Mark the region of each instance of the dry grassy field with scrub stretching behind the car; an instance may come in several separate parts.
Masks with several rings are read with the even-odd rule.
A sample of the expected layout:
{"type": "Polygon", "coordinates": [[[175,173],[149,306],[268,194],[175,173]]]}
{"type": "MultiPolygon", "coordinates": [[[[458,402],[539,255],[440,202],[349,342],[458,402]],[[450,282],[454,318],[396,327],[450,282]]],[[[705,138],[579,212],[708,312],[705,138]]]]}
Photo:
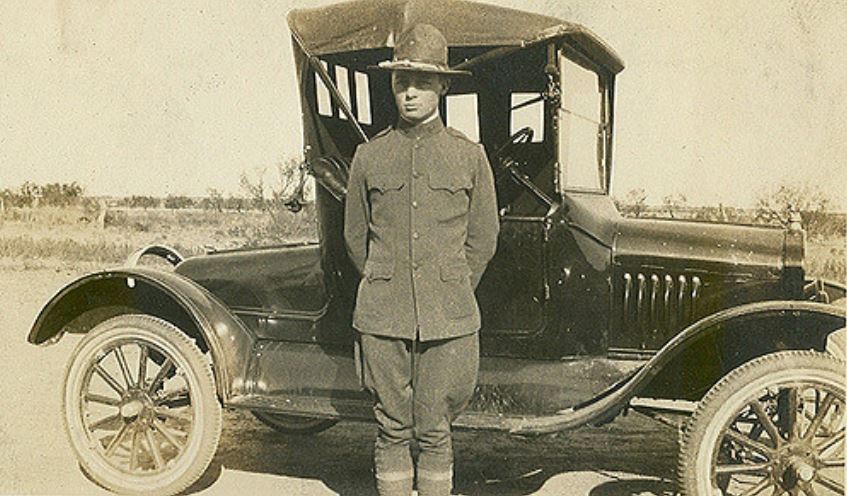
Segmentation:
{"type": "MultiPolygon", "coordinates": [[[[160,243],[183,254],[209,248],[257,247],[317,239],[312,207],[294,214],[200,209],[114,209],[100,227],[84,207],[10,208],[0,214],[0,267],[92,269],[120,264],[134,250],[160,243]]],[[[843,219],[841,219],[843,220],[843,219]]],[[[843,235],[810,233],[806,270],[847,280],[843,235]]]]}

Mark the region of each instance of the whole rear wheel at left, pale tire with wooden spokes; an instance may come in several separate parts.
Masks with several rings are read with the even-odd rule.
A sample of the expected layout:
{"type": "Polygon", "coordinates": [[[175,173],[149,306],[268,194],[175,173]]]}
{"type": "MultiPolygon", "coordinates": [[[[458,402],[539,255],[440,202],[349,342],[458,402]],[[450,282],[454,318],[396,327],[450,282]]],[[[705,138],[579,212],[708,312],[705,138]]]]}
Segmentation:
{"type": "Polygon", "coordinates": [[[122,315],[92,329],[68,363],[63,399],[80,465],[118,493],[178,493],[217,449],[222,413],[211,365],[157,318],[122,315]]]}

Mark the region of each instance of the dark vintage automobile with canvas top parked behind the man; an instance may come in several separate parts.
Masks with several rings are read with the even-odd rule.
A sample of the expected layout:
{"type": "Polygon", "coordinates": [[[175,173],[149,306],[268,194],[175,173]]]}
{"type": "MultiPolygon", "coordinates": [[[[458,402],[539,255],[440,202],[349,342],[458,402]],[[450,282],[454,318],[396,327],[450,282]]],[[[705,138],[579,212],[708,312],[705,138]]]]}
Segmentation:
{"type": "Polygon", "coordinates": [[[45,305],[29,342],[83,335],[63,393],[82,469],[115,492],[173,494],[206,470],[223,407],[289,433],[372,418],[343,198],[356,146],[397,118],[372,66],[419,22],[472,71],[441,115],[484,145],[501,220],[477,290],[479,386],[455,427],[529,436],[676,414],[684,494],[842,494],[845,287],[806,277],[798,219],[621,217],[609,196],[621,59],[578,24],[462,0],[289,15],[319,243],[187,259],[151,246],[45,305]]]}

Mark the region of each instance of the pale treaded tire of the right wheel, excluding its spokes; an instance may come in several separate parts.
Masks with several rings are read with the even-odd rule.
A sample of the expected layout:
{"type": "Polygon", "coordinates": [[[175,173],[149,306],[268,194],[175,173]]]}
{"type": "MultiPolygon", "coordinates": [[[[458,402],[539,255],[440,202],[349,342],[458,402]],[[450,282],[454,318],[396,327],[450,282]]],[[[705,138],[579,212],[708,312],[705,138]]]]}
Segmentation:
{"type": "Polygon", "coordinates": [[[784,351],[742,364],[718,381],[700,401],[680,443],[680,491],[687,496],[720,496],[711,484],[713,456],[724,429],[755,393],[769,386],[802,382],[841,392],[844,363],[812,351],[784,351]]]}

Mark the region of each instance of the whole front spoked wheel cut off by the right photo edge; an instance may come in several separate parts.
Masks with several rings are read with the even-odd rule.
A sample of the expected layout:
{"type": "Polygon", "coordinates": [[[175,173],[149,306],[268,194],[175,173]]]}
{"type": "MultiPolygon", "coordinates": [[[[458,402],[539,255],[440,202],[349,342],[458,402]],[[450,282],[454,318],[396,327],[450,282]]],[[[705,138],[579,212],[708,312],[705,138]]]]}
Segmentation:
{"type": "Polygon", "coordinates": [[[830,355],[786,351],[738,367],[683,433],[683,494],[843,495],[844,398],[844,363],[830,355]]]}

